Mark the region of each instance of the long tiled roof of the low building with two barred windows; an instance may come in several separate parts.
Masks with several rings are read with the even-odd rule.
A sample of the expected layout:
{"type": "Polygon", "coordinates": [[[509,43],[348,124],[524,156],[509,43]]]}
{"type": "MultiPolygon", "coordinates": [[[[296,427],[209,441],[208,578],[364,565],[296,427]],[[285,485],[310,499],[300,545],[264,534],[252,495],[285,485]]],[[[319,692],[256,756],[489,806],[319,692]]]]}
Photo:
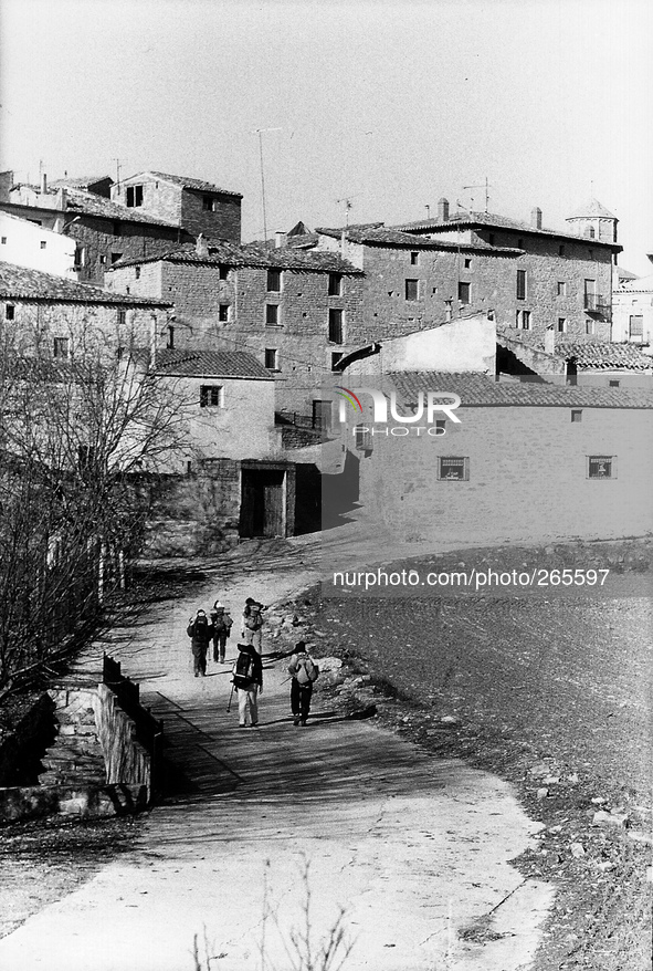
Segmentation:
{"type": "Polygon", "coordinates": [[[414,372],[390,374],[407,403],[417,403],[420,391],[450,391],[467,407],[557,407],[557,408],[653,408],[653,390],[593,388],[535,382],[502,383],[483,374],[414,372]]]}

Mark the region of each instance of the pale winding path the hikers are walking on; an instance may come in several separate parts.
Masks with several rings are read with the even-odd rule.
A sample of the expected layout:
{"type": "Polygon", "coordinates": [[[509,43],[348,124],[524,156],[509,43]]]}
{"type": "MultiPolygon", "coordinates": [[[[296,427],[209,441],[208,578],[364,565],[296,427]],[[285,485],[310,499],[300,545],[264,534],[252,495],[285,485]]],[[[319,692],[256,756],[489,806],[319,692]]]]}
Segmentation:
{"type": "Polygon", "coordinates": [[[134,852],[3,938],[1,969],[192,971],[193,935],[211,969],[298,967],[307,888],[314,943],[345,911],[345,971],[528,964],[552,891],[508,864],[538,828],[509,785],[344,720],[319,696],[313,723],[293,728],[283,664],[266,666],[259,730],[225,711],[229,666],[192,677],[192,609],[220,596],[238,617],[247,595],[285,599],[317,578],[310,543],[293,551],[240,551],[192,597],[113,633],[190,787],[151,813],[134,852]]]}

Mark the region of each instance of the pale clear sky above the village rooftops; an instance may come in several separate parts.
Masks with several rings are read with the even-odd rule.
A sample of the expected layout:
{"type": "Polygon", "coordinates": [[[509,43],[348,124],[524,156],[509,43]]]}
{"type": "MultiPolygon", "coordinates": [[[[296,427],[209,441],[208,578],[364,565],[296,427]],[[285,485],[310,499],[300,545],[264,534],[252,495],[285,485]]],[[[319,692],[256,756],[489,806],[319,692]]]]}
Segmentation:
{"type": "Polygon", "coordinates": [[[653,3],[0,0],[0,169],[243,194],[243,241],[591,196],[653,252],[653,3]],[[260,134],[257,134],[261,129],[260,134]],[[262,158],[261,158],[262,154],[262,158]],[[472,188],[470,188],[472,187],[472,188]]]}

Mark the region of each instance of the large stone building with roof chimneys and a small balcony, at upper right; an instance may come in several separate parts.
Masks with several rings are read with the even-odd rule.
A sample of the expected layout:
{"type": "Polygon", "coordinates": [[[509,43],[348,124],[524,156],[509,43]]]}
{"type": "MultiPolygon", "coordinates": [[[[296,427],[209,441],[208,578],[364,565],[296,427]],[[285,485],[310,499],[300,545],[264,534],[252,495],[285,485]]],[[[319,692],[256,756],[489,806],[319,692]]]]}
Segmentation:
{"type": "Polygon", "coordinates": [[[314,244],[339,251],[365,272],[360,343],[473,311],[493,311],[499,326],[515,331],[608,341],[612,261],[621,248],[617,220],[607,239],[608,217],[596,217],[590,237],[592,218],[572,218],[586,233],[580,237],[545,229],[539,209],[523,223],[489,213],[450,216],[441,199],[435,219],[318,229],[314,244]]]}

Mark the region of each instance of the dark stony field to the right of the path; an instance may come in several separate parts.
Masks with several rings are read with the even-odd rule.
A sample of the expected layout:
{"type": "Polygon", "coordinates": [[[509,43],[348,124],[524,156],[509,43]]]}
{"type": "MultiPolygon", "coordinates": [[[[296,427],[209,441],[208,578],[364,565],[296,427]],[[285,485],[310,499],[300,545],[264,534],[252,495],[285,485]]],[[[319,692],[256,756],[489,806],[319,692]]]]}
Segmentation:
{"type": "MultiPolygon", "coordinates": [[[[651,967],[651,544],[465,550],[397,567],[609,566],[597,595],[294,605],[344,658],[340,702],[517,786],[558,895],[536,971],[651,967]]],[[[388,567],[390,568],[390,567],[388,567]]],[[[484,928],[471,933],[484,933],[484,928]]]]}

